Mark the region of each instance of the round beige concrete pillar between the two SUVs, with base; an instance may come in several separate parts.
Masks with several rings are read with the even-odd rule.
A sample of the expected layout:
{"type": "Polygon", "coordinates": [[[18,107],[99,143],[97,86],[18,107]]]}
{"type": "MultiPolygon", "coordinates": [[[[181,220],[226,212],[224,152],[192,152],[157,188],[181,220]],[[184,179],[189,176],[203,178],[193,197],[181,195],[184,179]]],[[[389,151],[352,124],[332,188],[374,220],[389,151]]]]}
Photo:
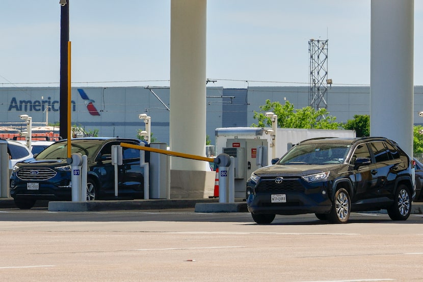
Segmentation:
{"type": "MultiPolygon", "coordinates": [[[[172,0],[170,150],[205,156],[206,0],[172,0]]],[[[204,171],[203,161],[172,158],[172,170],[204,171]]]]}

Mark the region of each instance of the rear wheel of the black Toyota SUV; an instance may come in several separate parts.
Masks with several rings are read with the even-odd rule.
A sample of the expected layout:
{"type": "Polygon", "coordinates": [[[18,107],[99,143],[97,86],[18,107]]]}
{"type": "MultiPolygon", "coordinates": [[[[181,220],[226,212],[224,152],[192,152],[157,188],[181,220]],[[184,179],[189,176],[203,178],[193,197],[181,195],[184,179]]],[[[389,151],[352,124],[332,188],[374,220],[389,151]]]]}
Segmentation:
{"type": "Polygon", "coordinates": [[[393,205],[388,209],[388,215],[392,220],[406,220],[411,213],[410,190],[401,184],[395,192],[393,205]]]}

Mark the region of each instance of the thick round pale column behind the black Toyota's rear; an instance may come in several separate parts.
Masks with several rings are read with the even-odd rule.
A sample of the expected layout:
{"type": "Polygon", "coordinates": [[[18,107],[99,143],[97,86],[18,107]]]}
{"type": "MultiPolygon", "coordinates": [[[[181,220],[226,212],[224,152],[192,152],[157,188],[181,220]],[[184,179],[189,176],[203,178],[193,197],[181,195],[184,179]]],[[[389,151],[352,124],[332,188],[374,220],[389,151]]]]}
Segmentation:
{"type": "Polygon", "coordinates": [[[414,0],[372,0],[370,132],[413,155],[414,0]]]}

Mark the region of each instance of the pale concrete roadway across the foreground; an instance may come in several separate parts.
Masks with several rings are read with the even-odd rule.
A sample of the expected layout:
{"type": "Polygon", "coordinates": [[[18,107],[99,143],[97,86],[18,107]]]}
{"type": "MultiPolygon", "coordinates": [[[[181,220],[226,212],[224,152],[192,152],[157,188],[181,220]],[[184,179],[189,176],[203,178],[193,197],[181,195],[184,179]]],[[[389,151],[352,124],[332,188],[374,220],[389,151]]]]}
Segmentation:
{"type": "Polygon", "coordinates": [[[2,281],[423,280],[423,216],[0,210],[2,281]]]}

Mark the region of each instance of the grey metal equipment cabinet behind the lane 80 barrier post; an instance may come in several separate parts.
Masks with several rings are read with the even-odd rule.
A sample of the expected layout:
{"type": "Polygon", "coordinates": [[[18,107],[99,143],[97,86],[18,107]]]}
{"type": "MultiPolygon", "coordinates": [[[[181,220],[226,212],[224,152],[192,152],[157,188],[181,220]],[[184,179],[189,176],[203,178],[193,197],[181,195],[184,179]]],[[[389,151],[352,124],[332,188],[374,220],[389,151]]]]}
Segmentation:
{"type": "Polygon", "coordinates": [[[268,165],[267,139],[227,139],[223,152],[234,157],[235,198],[245,199],[246,182],[257,168],[268,165]]]}

